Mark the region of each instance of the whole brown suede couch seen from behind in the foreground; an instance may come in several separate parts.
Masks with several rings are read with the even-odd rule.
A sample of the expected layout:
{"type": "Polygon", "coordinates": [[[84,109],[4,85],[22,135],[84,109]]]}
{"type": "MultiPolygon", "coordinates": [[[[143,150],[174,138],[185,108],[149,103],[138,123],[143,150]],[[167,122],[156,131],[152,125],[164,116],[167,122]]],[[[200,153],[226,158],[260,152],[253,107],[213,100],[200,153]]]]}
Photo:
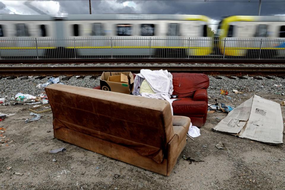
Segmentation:
{"type": "Polygon", "coordinates": [[[163,175],[186,145],[190,118],[165,100],[52,84],[54,137],[163,175]]]}

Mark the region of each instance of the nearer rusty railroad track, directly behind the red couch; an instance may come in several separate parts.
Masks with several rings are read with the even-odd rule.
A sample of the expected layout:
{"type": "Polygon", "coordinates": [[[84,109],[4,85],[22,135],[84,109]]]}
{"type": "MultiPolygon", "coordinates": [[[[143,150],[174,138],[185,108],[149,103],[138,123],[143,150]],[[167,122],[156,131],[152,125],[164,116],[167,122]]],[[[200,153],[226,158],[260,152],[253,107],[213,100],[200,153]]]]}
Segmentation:
{"type": "MultiPolygon", "coordinates": [[[[131,71],[139,73],[141,69],[169,72],[204,73],[223,76],[285,76],[285,67],[222,67],[222,66],[66,66],[66,67],[1,67],[0,76],[98,76],[106,71],[131,71]]],[[[285,78],[285,77],[283,77],[285,78]]]]}

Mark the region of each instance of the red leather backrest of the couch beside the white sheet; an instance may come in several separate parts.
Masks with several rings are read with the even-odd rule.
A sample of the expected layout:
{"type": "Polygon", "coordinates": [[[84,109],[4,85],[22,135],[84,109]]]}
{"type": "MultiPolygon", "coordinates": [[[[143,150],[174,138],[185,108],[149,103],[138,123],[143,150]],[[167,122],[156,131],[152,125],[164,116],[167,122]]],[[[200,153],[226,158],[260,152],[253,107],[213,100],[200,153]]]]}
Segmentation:
{"type": "Polygon", "coordinates": [[[171,73],[173,93],[179,97],[191,97],[196,90],[209,87],[209,77],[201,73],[171,73]]]}

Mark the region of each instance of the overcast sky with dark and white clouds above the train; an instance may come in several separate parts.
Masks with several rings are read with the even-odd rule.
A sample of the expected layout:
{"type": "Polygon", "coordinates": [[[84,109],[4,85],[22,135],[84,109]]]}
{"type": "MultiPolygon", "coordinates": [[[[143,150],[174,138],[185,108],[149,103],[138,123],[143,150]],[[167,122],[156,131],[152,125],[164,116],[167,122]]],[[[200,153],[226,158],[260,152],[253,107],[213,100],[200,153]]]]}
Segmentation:
{"type": "MultiPolygon", "coordinates": [[[[189,14],[206,15],[217,23],[229,15],[257,15],[258,0],[218,0],[234,2],[196,1],[98,1],[91,0],[92,14],[101,13],[142,13],[142,14],[189,14]],[[246,1],[246,2],[241,2],[246,1]],[[251,1],[251,2],[248,2],[251,1]],[[253,2],[254,1],[254,2],[253,2]]],[[[263,0],[261,15],[285,15],[282,0],[263,0]]],[[[89,14],[89,1],[13,1],[0,0],[0,14],[89,14]]]]}

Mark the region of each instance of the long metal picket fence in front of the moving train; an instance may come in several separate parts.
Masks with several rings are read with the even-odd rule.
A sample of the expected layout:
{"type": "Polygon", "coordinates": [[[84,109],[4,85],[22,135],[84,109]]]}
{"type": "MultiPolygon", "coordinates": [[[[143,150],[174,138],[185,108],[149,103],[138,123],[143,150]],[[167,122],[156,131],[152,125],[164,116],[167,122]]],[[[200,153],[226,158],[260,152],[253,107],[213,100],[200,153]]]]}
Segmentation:
{"type": "Polygon", "coordinates": [[[284,38],[0,38],[0,60],[285,60],[284,38]]]}

